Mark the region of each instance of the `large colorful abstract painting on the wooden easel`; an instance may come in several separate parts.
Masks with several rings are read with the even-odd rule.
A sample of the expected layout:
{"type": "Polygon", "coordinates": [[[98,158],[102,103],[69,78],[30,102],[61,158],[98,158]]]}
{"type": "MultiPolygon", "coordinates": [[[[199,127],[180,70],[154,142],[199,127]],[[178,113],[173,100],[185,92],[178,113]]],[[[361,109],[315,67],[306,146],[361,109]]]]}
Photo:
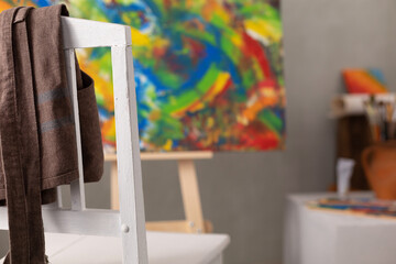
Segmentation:
{"type": "MultiPolygon", "coordinates": [[[[29,1],[0,0],[0,8],[29,1]]],[[[62,1],[61,1],[62,2],[62,1]]],[[[51,1],[32,0],[36,7],[51,1]]],[[[67,0],[70,15],[132,28],[143,151],[265,151],[285,144],[279,0],[67,0]]],[[[114,147],[108,48],[79,52],[114,147]]]]}

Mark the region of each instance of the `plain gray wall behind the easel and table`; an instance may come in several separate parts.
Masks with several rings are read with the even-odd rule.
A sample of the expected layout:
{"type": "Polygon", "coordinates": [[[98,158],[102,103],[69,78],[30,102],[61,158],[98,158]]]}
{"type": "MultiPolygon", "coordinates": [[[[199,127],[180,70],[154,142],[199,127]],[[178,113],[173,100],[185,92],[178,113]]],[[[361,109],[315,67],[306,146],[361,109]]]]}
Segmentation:
{"type": "MultiPolygon", "coordinates": [[[[334,122],[327,113],[330,98],[342,91],[340,69],[381,67],[396,85],[396,1],[282,1],[286,150],[197,162],[204,213],[232,239],[228,264],[282,263],[285,196],[332,183],[334,122]]],[[[143,175],[147,220],[183,218],[176,163],[144,162],[143,175]]],[[[109,206],[108,183],[106,175],[100,195],[88,187],[91,206],[109,206]]]]}

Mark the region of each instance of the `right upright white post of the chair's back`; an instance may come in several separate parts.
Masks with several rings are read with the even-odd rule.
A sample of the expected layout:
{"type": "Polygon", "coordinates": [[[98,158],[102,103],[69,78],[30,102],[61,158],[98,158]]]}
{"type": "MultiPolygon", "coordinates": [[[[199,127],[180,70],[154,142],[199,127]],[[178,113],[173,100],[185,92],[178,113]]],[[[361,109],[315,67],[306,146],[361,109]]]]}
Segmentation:
{"type": "MultiPolygon", "coordinates": [[[[131,31],[127,31],[131,38],[131,31]]],[[[142,169],[131,46],[112,46],[117,161],[123,264],[146,264],[142,169]]],[[[116,228],[116,227],[114,227],[116,228]]]]}

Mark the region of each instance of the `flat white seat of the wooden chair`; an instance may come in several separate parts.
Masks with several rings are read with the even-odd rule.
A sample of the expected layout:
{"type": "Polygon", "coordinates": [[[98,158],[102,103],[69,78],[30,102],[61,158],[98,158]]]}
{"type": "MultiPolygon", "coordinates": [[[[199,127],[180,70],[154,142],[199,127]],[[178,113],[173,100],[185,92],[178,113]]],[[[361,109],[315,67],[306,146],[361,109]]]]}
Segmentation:
{"type": "MultiPolygon", "coordinates": [[[[121,264],[119,238],[46,233],[46,253],[54,264],[121,264]]],[[[230,243],[226,234],[147,232],[150,264],[212,264],[230,243]]],[[[2,263],[2,262],[1,262],[2,263]]]]}

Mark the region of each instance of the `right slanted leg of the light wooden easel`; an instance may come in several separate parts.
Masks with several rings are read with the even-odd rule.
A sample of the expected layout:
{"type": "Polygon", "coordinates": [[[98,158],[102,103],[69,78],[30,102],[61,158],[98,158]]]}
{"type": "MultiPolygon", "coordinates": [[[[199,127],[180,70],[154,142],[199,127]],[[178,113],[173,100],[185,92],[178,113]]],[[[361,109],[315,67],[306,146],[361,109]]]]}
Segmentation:
{"type": "Polygon", "coordinates": [[[194,162],[178,161],[178,172],[186,219],[193,232],[204,233],[205,221],[194,162]]]}

